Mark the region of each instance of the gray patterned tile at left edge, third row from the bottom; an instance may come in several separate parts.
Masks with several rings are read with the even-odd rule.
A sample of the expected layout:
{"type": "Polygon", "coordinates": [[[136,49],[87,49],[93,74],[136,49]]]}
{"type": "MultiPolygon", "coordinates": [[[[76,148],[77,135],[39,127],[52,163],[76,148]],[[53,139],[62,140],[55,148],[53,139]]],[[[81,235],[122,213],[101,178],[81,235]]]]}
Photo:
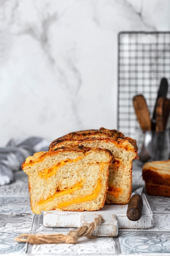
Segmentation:
{"type": "Polygon", "coordinates": [[[0,198],[0,212],[32,213],[29,198],[0,198]]]}

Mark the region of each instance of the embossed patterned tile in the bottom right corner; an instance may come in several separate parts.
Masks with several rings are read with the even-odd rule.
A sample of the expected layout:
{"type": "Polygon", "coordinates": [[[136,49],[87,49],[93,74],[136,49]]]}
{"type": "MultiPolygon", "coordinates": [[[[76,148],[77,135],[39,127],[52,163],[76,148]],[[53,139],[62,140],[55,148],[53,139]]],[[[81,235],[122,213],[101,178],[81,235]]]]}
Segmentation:
{"type": "Polygon", "coordinates": [[[119,232],[122,254],[161,254],[170,252],[169,232],[119,232]]]}

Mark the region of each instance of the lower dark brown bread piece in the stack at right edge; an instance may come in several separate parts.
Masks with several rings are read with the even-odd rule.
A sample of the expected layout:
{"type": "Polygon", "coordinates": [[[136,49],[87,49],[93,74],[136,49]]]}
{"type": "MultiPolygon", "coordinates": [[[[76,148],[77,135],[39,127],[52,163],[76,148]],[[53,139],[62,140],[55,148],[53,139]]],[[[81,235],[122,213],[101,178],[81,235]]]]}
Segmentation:
{"type": "Polygon", "coordinates": [[[145,183],[146,193],[148,195],[158,195],[170,197],[170,186],[160,184],[145,183]]]}

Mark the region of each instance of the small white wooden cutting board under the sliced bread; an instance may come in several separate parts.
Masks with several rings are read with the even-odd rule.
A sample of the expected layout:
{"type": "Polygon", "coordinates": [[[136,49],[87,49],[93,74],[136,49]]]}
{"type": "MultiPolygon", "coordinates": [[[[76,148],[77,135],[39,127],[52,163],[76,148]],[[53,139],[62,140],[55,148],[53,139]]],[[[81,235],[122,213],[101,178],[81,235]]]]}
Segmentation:
{"type": "Polygon", "coordinates": [[[90,224],[97,216],[102,215],[104,222],[93,231],[94,236],[117,236],[118,229],[149,229],[153,226],[153,214],[144,193],[142,198],[142,215],[137,221],[127,218],[127,204],[105,204],[100,211],[44,211],[43,225],[46,227],[81,227],[90,224]]]}

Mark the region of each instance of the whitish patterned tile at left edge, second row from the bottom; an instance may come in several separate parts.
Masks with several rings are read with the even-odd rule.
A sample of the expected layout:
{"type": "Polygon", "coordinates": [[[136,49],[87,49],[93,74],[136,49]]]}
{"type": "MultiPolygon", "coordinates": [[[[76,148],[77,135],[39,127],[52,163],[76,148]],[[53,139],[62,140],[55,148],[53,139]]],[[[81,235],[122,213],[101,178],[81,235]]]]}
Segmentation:
{"type": "Polygon", "coordinates": [[[31,213],[0,213],[0,231],[31,231],[33,217],[31,213]]]}

